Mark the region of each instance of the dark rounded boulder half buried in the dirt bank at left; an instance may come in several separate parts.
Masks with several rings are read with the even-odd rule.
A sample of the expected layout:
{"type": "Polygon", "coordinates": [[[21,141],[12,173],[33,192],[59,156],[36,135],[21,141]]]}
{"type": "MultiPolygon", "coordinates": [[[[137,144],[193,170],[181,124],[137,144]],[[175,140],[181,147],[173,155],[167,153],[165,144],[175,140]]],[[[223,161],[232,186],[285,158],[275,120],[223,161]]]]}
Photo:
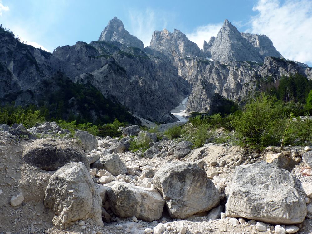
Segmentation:
{"type": "Polygon", "coordinates": [[[54,171],[70,162],[82,162],[90,169],[90,164],[72,144],[53,138],[37,139],[23,152],[22,160],[38,168],[54,171]]]}

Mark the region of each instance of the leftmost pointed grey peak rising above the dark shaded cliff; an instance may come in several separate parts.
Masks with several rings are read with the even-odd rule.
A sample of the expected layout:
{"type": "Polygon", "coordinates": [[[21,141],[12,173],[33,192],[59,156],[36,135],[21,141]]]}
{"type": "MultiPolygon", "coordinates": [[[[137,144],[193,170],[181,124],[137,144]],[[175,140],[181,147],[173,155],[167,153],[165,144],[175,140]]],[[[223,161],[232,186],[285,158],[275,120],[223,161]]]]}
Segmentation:
{"type": "Polygon", "coordinates": [[[102,31],[99,41],[118,41],[125,46],[144,49],[144,44],[124,28],[123,22],[116,16],[111,19],[102,31]]]}

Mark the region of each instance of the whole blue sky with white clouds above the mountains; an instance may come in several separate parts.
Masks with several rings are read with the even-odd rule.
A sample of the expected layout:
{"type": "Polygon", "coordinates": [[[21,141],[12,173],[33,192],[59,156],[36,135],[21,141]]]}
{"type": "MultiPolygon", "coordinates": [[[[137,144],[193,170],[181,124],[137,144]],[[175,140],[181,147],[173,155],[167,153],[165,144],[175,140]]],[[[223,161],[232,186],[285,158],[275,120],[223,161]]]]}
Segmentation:
{"type": "Polygon", "coordinates": [[[202,48],[225,19],[240,32],[265,34],[287,59],[312,66],[311,0],[0,0],[0,23],[35,47],[52,52],[90,43],[113,17],[149,46],[154,30],[178,29],[202,48]]]}

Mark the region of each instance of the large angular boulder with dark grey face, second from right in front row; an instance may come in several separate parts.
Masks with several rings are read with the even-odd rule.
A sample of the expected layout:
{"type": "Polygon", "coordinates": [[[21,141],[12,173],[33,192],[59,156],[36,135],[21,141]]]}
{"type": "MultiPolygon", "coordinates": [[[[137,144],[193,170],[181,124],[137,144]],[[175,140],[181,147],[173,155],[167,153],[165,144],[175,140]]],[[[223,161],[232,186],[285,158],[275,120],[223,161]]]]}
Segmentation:
{"type": "Polygon", "coordinates": [[[219,204],[219,192],[196,163],[173,162],[163,165],[153,183],[162,194],[172,218],[184,219],[219,204]]]}

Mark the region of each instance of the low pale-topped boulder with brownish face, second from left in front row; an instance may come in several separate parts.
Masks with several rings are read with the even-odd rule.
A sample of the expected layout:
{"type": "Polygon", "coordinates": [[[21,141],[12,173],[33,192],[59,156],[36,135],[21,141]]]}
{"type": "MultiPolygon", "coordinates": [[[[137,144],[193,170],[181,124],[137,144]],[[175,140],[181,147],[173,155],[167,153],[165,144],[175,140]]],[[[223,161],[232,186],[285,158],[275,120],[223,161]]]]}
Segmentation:
{"type": "Polygon", "coordinates": [[[148,222],[161,217],[165,204],[157,190],[134,186],[125,182],[115,183],[107,190],[110,208],[119,217],[132,217],[148,222]]]}

